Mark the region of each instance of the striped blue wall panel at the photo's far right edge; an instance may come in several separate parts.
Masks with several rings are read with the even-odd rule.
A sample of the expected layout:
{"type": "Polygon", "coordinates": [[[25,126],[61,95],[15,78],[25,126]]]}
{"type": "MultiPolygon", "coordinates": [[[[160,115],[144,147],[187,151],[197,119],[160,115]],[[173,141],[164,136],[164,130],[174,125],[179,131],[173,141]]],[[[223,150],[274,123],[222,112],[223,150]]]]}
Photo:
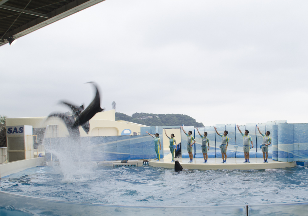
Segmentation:
{"type": "Polygon", "coordinates": [[[308,124],[294,124],[293,161],[308,162],[308,124]]]}

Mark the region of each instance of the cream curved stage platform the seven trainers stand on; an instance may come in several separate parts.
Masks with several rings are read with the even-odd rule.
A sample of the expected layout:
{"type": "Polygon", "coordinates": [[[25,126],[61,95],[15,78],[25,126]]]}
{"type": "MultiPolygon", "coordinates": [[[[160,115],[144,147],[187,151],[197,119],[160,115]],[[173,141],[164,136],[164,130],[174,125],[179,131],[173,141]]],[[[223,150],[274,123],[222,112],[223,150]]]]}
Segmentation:
{"type": "MultiPolygon", "coordinates": [[[[168,154],[164,156],[164,158],[160,159],[160,161],[156,161],[154,159],[149,160],[149,165],[153,167],[164,167],[174,169],[174,162],[171,163],[172,156],[168,154]]],[[[203,158],[194,158],[193,163],[188,163],[189,158],[175,158],[176,161],[179,161],[184,169],[276,169],[276,168],[286,168],[286,167],[294,167],[296,166],[296,162],[280,162],[273,161],[272,159],[268,159],[268,163],[263,163],[263,158],[250,158],[250,163],[243,163],[245,161],[244,158],[227,158],[227,163],[221,163],[221,158],[209,158],[208,163],[205,164],[203,158]]]]}

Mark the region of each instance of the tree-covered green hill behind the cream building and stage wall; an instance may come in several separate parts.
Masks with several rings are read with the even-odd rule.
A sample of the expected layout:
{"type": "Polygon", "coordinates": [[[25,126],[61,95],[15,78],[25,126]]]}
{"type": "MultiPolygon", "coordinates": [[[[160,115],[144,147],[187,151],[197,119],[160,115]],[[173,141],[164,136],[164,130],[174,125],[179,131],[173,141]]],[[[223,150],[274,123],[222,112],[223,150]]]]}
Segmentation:
{"type": "Polygon", "coordinates": [[[195,126],[198,128],[204,127],[200,122],[196,122],[196,119],[193,119],[190,116],[182,114],[154,114],[154,113],[134,113],[132,116],[125,115],[124,113],[116,112],[115,120],[124,120],[130,121],[137,124],[144,124],[147,126],[173,126],[173,125],[182,125],[184,126],[195,126]],[[153,118],[148,119],[138,119],[142,116],[152,116],[153,118]],[[158,118],[156,117],[158,116],[158,118]]]}

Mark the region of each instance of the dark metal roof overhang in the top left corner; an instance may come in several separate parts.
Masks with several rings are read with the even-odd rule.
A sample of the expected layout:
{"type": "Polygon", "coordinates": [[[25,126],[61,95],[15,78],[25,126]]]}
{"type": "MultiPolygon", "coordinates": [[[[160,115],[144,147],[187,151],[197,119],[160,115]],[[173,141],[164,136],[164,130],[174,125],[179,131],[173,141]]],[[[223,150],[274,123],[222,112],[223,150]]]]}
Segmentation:
{"type": "Polygon", "coordinates": [[[105,0],[0,0],[0,46],[105,0]]]}

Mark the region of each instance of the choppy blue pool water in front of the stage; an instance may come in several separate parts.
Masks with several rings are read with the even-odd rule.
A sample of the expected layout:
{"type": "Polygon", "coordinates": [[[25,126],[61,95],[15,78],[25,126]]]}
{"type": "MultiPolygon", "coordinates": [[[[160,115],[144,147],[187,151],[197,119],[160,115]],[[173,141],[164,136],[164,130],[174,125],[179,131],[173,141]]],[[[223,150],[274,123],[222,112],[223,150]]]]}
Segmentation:
{"type": "Polygon", "coordinates": [[[308,168],[182,170],[95,167],[87,178],[63,182],[56,167],[2,178],[0,190],[60,201],[125,206],[213,206],[307,202],[308,168]]]}

